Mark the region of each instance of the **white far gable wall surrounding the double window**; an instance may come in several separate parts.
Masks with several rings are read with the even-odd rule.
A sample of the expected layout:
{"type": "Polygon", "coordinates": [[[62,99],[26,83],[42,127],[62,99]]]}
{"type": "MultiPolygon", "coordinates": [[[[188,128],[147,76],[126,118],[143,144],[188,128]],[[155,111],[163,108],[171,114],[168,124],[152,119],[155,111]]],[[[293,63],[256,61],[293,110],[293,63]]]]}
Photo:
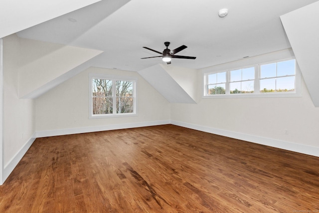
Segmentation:
{"type": "Polygon", "coordinates": [[[91,67],[36,99],[39,137],[169,123],[170,105],[137,72],[91,67]],[[89,73],[138,77],[138,115],[89,119],[89,73]]]}

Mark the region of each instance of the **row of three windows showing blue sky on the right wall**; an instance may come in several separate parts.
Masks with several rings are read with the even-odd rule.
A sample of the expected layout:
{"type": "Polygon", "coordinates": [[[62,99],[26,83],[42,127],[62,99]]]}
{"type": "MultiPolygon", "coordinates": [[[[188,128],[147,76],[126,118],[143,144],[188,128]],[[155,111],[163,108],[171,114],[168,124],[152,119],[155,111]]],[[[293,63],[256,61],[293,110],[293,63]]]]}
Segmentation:
{"type": "Polygon", "coordinates": [[[298,96],[300,79],[295,59],[204,73],[204,97],[298,96]]]}

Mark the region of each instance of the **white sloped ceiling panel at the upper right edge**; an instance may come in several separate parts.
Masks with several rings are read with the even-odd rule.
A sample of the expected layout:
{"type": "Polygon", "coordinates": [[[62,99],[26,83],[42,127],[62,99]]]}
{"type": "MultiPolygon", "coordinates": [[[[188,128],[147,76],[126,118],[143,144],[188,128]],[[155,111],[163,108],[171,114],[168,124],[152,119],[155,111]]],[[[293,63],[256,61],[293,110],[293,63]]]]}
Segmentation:
{"type": "Polygon", "coordinates": [[[314,105],[319,107],[319,1],[280,16],[314,105]]]}

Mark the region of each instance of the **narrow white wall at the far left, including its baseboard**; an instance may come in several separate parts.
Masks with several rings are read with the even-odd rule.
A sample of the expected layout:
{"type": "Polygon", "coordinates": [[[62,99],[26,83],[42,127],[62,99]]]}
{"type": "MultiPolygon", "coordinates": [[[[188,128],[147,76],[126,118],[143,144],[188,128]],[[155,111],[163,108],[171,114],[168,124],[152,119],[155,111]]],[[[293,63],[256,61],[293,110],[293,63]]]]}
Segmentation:
{"type": "Polygon", "coordinates": [[[19,39],[3,38],[3,180],[34,141],[35,101],[18,98],[19,39]],[[26,150],[25,150],[26,149],[26,150]]]}

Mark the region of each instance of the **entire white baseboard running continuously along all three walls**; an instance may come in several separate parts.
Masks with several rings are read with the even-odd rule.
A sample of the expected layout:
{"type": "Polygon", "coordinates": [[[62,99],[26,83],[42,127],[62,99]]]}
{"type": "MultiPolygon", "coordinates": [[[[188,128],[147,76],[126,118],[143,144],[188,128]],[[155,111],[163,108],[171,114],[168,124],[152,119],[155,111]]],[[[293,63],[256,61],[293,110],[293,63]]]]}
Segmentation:
{"type": "MultiPolygon", "coordinates": [[[[116,125],[107,125],[107,126],[96,126],[96,127],[81,127],[81,128],[72,128],[72,129],[60,129],[60,130],[49,130],[49,131],[40,131],[35,132],[32,137],[24,144],[24,146],[15,154],[15,156],[4,166],[2,171],[2,181],[4,182],[19,161],[22,159],[26,151],[30,148],[32,143],[36,138],[41,137],[50,137],[58,135],[70,135],[78,133],[87,133],[87,132],[99,132],[107,130],[117,130],[117,129],[128,129],[128,128],[137,128],[137,127],[146,127],[146,126],[157,126],[164,124],[173,124],[176,126],[186,127],[189,129],[199,130],[202,132],[212,133],[216,135],[222,135],[230,138],[235,138],[239,140],[244,140],[252,143],[262,144],[266,146],[271,146],[279,149],[289,150],[293,152],[303,153],[307,155],[319,157],[319,147],[312,147],[303,144],[296,144],[287,141],[281,141],[271,138],[264,138],[254,135],[247,135],[243,133],[231,132],[227,130],[215,129],[211,127],[205,127],[190,123],[184,123],[180,121],[173,120],[162,120],[162,121],[152,121],[152,122],[140,122],[140,123],[129,123],[129,124],[116,124],[116,125]]],[[[0,183],[0,185],[3,183],[0,183]]]]}

